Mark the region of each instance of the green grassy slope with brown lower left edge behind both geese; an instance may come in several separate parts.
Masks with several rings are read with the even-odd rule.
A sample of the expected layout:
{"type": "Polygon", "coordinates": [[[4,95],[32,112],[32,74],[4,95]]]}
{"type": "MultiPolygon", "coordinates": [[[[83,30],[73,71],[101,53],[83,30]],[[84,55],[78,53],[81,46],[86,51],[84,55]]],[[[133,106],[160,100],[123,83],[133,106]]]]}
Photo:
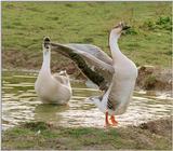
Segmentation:
{"type": "MultiPolygon", "coordinates": [[[[3,68],[39,69],[41,42],[92,43],[109,54],[108,33],[120,20],[132,28],[120,40],[136,65],[171,67],[171,2],[2,2],[3,68]]],[[[57,54],[52,69],[74,68],[57,54]]]]}

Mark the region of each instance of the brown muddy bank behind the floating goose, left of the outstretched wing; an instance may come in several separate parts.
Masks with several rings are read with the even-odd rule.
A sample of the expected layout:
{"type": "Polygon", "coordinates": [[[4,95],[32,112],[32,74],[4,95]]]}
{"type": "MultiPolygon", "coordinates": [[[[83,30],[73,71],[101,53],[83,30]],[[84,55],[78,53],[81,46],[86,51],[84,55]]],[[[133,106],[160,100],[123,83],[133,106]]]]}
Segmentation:
{"type": "MultiPolygon", "coordinates": [[[[26,51],[2,51],[2,69],[24,69],[24,70],[40,70],[42,65],[42,51],[26,52],[26,51]]],[[[52,52],[51,70],[57,72],[67,70],[68,74],[75,74],[77,78],[85,79],[81,76],[76,65],[68,58],[52,52]]]]}

